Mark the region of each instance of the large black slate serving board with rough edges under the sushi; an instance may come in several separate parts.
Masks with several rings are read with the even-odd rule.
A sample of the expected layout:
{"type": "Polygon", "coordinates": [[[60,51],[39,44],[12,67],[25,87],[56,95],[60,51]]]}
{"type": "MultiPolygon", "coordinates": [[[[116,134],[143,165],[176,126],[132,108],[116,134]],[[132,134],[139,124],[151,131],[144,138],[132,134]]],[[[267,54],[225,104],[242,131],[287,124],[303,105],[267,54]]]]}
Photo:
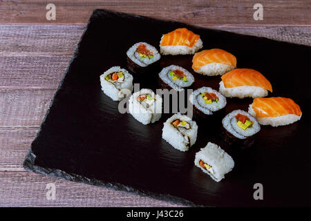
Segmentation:
{"type": "MultiPolygon", "coordinates": [[[[191,70],[191,58],[162,56],[160,64],[191,70]]],[[[307,46],[95,10],[23,166],[186,205],[310,206],[310,58],[307,46]],[[263,126],[256,144],[240,151],[225,144],[220,122],[200,124],[196,144],[182,153],[161,139],[169,115],[144,126],[131,115],[118,113],[118,102],[102,93],[100,75],[111,66],[126,68],[126,50],[135,42],[158,47],[163,33],[180,27],[198,33],[205,49],[232,52],[239,68],[263,73],[272,82],[273,96],[291,97],[301,106],[301,121],[278,128],[263,126]],[[221,182],[194,166],[195,153],[207,142],[220,145],[236,162],[221,182]],[[264,200],[254,200],[255,183],[263,184],[264,200]]],[[[220,77],[194,76],[194,88],[218,89],[220,77]]],[[[226,113],[247,110],[251,102],[228,99],[226,113]]]]}

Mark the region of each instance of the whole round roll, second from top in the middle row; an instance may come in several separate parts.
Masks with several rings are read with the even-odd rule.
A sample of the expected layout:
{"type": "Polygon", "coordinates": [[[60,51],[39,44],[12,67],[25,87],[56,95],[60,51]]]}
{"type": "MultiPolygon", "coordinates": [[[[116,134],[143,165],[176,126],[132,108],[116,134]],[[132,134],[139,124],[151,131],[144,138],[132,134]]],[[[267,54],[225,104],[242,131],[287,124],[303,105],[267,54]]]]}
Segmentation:
{"type": "Polygon", "coordinates": [[[171,65],[161,70],[159,81],[162,88],[173,88],[181,91],[194,83],[194,76],[185,68],[171,65]]]}

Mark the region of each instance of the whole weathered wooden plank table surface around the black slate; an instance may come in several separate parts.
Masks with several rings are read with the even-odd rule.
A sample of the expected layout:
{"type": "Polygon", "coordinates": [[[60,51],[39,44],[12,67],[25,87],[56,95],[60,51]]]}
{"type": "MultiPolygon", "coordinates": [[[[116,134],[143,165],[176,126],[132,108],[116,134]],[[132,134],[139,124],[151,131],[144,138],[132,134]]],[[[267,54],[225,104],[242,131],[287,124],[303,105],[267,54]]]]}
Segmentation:
{"type": "Polygon", "coordinates": [[[0,206],[177,206],[139,195],[26,172],[23,159],[95,8],[311,46],[311,1],[0,1],[0,206]],[[46,184],[56,199],[46,199],[46,184]]]}

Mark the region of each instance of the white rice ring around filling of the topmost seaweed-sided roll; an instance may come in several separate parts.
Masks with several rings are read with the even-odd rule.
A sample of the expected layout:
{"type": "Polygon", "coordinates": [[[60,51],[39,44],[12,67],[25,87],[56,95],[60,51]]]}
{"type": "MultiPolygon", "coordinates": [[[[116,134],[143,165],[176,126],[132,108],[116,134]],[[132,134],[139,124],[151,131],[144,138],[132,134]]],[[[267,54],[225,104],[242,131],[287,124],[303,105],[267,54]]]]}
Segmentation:
{"type": "Polygon", "coordinates": [[[158,50],[151,46],[150,44],[146,43],[146,42],[138,42],[136,44],[134,44],[133,46],[131,46],[131,48],[129,48],[129,50],[126,52],[127,57],[129,57],[135,64],[138,64],[141,67],[147,67],[149,66],[149,64],[153,64],[154,62],[158,61],[161,57],[160,53],[158,52],[158,50]],[[138,56],[138,52],[136,52],[138,46],[140,44],[144,44],[145,46],[147,46],[148,50],[151,50],[151,52],[153,52],[153,57],[152,58],[144,58],[142,59],[141,57],[138,56]]]}

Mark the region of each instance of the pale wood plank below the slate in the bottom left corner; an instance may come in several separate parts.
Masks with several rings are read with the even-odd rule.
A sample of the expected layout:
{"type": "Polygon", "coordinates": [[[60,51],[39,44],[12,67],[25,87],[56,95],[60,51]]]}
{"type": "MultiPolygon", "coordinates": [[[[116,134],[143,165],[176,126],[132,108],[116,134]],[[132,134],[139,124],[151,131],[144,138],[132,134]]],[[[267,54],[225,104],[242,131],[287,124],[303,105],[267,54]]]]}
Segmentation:
{"type": "Polygon", "coordinates": [[[178,206],[28,172],[0,172],[0,206],[178,206]],[[46,199],[46,184],[56,186],[56,199],[46,199]]]}

